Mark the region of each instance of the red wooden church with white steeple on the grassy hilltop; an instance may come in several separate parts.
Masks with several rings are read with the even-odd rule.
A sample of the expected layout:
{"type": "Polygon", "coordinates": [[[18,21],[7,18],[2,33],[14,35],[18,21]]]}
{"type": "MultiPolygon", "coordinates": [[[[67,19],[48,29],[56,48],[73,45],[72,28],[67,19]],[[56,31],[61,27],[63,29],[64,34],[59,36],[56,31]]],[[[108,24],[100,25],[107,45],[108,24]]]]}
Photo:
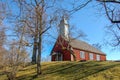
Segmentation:
{"type": "Polygon", "coordinates": [[[106,54],[90,44],[69,37],[67,21],[60,21],[60,33],[51,51],[52,61],[96,60],[105,61],[106,54]]]}

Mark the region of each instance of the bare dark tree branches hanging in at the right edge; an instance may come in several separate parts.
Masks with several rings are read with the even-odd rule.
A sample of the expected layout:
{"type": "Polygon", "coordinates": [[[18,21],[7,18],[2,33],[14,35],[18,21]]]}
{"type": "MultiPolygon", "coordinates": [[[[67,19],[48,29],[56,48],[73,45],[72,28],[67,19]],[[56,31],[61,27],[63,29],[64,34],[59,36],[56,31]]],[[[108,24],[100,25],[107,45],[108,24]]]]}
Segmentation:
{"type": "Polygon", "coordinates": [[[112,34],[110,45],[120,46],[120,1],[119,0],[97,0],[102,3],[105,14],[112,23],[107,29],[112,34]]]}

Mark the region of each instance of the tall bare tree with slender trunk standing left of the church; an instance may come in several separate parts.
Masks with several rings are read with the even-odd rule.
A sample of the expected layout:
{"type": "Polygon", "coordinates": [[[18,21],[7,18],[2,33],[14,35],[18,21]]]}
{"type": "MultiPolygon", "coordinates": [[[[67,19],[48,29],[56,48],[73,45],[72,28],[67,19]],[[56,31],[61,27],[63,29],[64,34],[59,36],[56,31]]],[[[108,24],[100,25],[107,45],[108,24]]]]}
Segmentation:
{"type": "MultiPolygon", "coordinates": [[[[52,1],[52,0],[51,0],[52,1]]],[[[21,10],[21,18],[18,22],[26,26],[26,33],[33,38],[33,56],[32,63],[37,63],[37,74],[41,74],[41,51],[42,36],[51,28],[51,24],[55,21],[54,16],[47,16],[46,9],[53,7],[44,0],[17,1],[21,10]]],[[[32,43],[32,42],[31,42],[32,43]]]]}

